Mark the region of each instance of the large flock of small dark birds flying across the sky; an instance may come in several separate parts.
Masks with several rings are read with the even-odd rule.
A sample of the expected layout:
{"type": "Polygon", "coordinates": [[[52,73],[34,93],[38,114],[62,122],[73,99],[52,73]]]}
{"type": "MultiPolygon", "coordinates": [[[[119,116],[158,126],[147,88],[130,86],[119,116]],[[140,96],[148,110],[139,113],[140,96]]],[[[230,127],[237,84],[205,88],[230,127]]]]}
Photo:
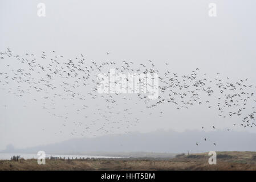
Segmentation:
{"type": "MultiPolygon", "coordinates": [[[[108,55],[109,52],[106,53],[106,56],[108,55]]],[[[107,134],[120,129],[126,129],[129,133],[130,127],[138,125],[141,115],[152,115],[155,108],[167,104],[172,104],[177,110],[206,105],[209,109],[216,109],[222,118],[241,119],[240,123],[233,123],[233,126],[256,126],[255,107],[247,108],[249,101],[256,102],[253,92],[256,87],[248,84],[247,78],[231,81],[229,77],[218,78],[220,73],[217,73],[216,78],[210,79],[206,74],[202,74],[201,77],[198,68],[188,75],[179,76],[168,70],[168,63],[165,63],[165,72],[159,71],[152,60],[144,64],[136,64],[132,61],[96,63],[86,60],[83,54],[74,59],[65,59],[55,51],[48,53],[42,51],[40,55],[33,53],[17,55],[10,48],[0,52],[0,65],[0,89],[17,97],[29,95],[32,102],[42,102],[40,103],[42,109],[58,117],[62,121],[63,128],[69,127],[68,132],[71,135],[84,136],[86,133],[94,135],[95,132],[107,134]],[[121,73],[157,73],[159,97],[156,100],[149,100],[143,93],[134,94],[135,97],[121,93],[97,93],[97,85],[100,82],[97,80],[97,75],[103,72],[109,74],[110,68],[115,68],[121,73]],[[9,85],[11,87],[7,88],[9,85]],[[56,107],[58,102],[63,103],[59,106],[63,107],[60,108],[59,114],[56,107]],[[94,106],[87,105],[89,102],[94,106]],[[66,113],[63,113],[63,110],[66,110],[66,113]],[[74,117],[71,113],[80,115],[82,119],[74,119],[78,117],[74,117]],[[72,121],[73,119],[75,121],[72,121]],[[73,127],[78,129],[70,131],[72,127],[70,121],[73,127]],[[100,123],[101,127],[97,123],[100,123]]],[[[160,111],[158,114],[162,117],[164,113],[160,111]]],[[[215,126],[211,127],[216,129],[215,126]]],[[[59,131],[62,132],[63,130],[59,131]]]]}

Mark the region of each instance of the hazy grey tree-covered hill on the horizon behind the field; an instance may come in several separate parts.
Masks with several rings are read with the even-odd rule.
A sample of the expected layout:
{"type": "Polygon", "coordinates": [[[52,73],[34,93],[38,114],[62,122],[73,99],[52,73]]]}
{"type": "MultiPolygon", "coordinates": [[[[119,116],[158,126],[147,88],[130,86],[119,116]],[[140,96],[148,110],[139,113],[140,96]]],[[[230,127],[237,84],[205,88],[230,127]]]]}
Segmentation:
{"type": "Polygon", "coordinates": [[[76,138],[59,143],[29,148],[7,146],[3,152],[46,154],[84,154],[108,156],[173,156],[174,153],[205,151],[256,151],[256,134],[238,131],[155,131],[151,133],[131,133],[122,135],[104,135],[95,138],[76,138]],[[206,138],[206,141],[204,140],[206,138]],[[196,145],[198,143],[198,146],[196,145]],[[214,146],[213,143],[216,143],[214,146]],[[144,153],[143,152],[147,152],[144,153]],[[168,154],[167,154],[168,153],[168,154]],[[141,155],[143,154],[143,155],[141,155]]]}

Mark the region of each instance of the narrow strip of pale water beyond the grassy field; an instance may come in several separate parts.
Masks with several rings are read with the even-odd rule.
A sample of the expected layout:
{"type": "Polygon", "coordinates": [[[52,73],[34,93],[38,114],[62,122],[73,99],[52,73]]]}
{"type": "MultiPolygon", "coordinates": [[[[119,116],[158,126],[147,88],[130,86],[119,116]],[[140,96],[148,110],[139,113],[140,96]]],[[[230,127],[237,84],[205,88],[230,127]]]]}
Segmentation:
{"type": "MultiPolygon", "coordinates": [[[[0,160],[10,160],[12,156],[20,155],[23,159],[38,159],[37,154],[15,154],[15,153],[0,153],[0,160]]],[[[83,158],[118,158],[118,157],[109,157],[109,156],[94,156],[94,155],[59,155],[59,154],[46,154],[46,158],[50,157],[58,157],[58,158],[65,158],[65,159],[83,159],[83,158]]]]}

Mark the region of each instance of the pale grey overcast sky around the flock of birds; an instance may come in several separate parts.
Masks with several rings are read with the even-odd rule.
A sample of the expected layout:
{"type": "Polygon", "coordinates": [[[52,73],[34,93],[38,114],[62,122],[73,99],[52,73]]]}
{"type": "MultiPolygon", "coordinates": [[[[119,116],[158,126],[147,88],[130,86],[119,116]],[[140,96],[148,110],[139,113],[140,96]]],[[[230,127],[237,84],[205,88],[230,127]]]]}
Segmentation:
{"type": "MultiPolygon", "coordinates": [[[[59,59],[61,63],[74,59],[81,53],[86,60],[96,62],[110,60],[121,64],[122,61],[133,61],[139,65],[153,60],[160,73],[164,73],[165,63],[169,64],[170,71],[179,75],[189,74],[199,68],[200,73],[207,73],[209,78],[215,78],[217,72],[221,73],[218,75],[220,79],[229,77],[235,81],[248,78],[248,84],[254,85],[255,90],[255,6],[256,2],[253,0],[4,0],[0,2],[0,52],[10,48],[18,55],[25,55],[27,52],[41,55],[44,51],[50,56],[55,51],[56,54],[64,56],[64,59],[59,59]],[[46,5],[45,17],[37,14],[38,3],[46,5]],[[216,3],[216,17],[208,14],[209,3],[216,3]]],[[[1,61],[0,72],[9,73],[10,69],[25,68],[25,65],[18,64],[14,58],[1,61]]],[[[38,61],[46,64],[45,61],[49,60],[38,61]]],[[[40,76],[35,75],[35,78],[40,76]]],[[[68,110],[76,109],[75,106],[79,104],[88,105],[89,109],[84,111],[87,118],[81,118],[74,112],[67,119],[67,127],[63,127],[63,118],[54,117],[52,113],[64,114],[66,111],[62,106],[71,103],[70,101],[64,103],[54,100],[56,109],[50,109],[49,114],[42,109],[44,100],[39,93],[15,97],[7,90],[15,89],[17,85],[1,85],[0,88],[0,150],[5,149],[7,144],[26,148],[72,138],[103,135],[97,129],[103,127],[104,121],[97,120],[95,114],[99,107],[102,106],[103,109],[102,100],[74,101],[75,105],[68,105],[68,110]],[[31,101],[34,98],[36,102],[31,101]],[[90,125],[92,121],[96,121],[94,129],[80,135],[83,129],[78,122],[90,125]],[[71,135],[73,130],[79,134],[71,135]]],[[[87,93],[87,89],[92,88],[89,85],[81,92],[87,93]]],[[[63,90],[59,89],[58,92],[62,93],[63,90]]],[[[213,125],[217,129],[226,130],[241,120],[235,117],[220,118],[218,111],[209,110],[205,105],[182,111],[176,110],[173,105],[160,106],[149,115],[145,111],[139,112],[144,106],[135,105],[133,96],[124,97],[131,98],[128,107],[132,108],[133,114],[127,116],[128,120],[137,117],[140,121],[128,129],[123,128],[125,125],[121,123],[117,129],[113,123],[106,129],[116,127],[113,134],[150,133],[158,129],[186,132],[200,130],[202,126],[210,132],[213,125]],[[161,118],[160,111],[164,113],[161,118]]],[[[217,102],[214,98],[212,102],[217,102]]],[[[255,105],[254,103],[248,107],[255,105]]],[[[115,111],[122,108],[126,106],[120,104],[115,111]]],[[[118,117],[112,116],[114,119],[118,117]]],[[[233,127],[232,130],[246,133],[256,131],[255,127],[233,127]]],[[[243,147],[241,146],[241,150],[243,147]]]]}

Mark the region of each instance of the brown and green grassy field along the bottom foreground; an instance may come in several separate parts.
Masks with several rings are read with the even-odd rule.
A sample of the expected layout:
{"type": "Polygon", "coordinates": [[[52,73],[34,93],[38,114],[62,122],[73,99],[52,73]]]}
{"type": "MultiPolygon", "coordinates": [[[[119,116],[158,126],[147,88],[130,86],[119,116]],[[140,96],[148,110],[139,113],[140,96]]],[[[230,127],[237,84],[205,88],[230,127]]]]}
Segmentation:
{"type": "Polygon", "coordinates": [[[46,160],[0,160],[0,170],[256,170],[256,152],[217,152],[217,164],[208,163],[207,153],[174,158],[122,158],[46,160]]]}

